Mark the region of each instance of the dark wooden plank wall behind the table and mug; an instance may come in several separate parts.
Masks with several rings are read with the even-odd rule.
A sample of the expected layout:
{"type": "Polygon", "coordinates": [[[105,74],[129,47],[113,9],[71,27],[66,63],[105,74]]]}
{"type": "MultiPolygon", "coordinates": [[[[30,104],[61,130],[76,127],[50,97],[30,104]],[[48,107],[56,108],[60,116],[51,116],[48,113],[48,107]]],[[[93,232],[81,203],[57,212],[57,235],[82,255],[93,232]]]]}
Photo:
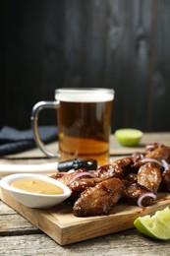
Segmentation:
{"type": "MultiPolygon", "coordinates": [[[[170,131],[169,0],[1,2],[0,127],[30,127],[32,106],[66,87],[116,91],[112,131],[170,131]]],[[[40,123],[53,124],[44,110],[40,123]]]]}

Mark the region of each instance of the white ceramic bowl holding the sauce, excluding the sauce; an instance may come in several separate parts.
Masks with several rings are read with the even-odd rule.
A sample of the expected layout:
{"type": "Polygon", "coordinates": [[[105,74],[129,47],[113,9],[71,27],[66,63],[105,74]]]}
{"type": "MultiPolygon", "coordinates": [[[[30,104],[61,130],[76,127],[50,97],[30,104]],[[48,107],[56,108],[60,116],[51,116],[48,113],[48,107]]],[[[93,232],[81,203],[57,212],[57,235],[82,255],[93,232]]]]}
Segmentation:
{"type": "Polygon", "coordinates": [[[0,186],[6,189],[18,202],[30,208],[51,208],[62,203],[71,195],[71,190],[69,189],[69,187],[64,185],[62,182],[41,174],[23,173],[8,175],[0,180],[0,186]],[[43,181],[51,182],[52,184],[61,187],[64,190],[64,193],[57,195],[29,193],[27,191],[17,189],[10,185],[14,181],[27,178],[40,179],[43,181]]]}

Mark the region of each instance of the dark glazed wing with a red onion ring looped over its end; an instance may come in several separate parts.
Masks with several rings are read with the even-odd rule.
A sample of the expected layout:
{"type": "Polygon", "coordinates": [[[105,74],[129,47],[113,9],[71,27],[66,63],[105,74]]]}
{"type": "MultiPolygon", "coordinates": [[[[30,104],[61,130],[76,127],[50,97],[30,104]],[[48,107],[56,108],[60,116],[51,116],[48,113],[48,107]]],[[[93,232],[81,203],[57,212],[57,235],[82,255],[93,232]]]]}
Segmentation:
{"type": "MultiPolygon", "coordinates": [[[[123,196],[125,199],[128,199],[129,201],[137,204],[139,198],[142,196],[142,194],[149,193],[150,191],[143,187],[141,184],[138,183],[124,183],[123,187],[123,196]]],[[[142,200],[142,205],[143,206],[150,206],[153,203],[153,198],[152,197],[144,197],[142,200]]]]}

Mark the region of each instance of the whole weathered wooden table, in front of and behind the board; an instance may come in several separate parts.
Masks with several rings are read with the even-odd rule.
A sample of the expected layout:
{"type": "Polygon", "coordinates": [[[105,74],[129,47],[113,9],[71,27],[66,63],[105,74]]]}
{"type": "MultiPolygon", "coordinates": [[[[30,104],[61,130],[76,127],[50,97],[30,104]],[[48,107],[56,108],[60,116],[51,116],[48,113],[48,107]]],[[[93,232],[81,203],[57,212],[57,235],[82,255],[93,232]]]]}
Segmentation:
{"type": "MultiPolygon", "coordinates": [[[[143,151],[146,143],[160,142],[170,146],[170,133],[144,134],[138,148],[123,148],[111,137],[112,158],[143,151]]],[[[51,144],[56,148],[56,143],[51,144]]],[[[0,163],[41,163],[46,160],[35,149],[8,158],[0,163]]],[[[61,246],[38,228],[29,224],[13,209],[0,201],[0,255],[170,255],[170,241],[155,241],[143,236],[136,228],[61,246]],[[162,254],[163,253],[163,254],[162,254]]]]}

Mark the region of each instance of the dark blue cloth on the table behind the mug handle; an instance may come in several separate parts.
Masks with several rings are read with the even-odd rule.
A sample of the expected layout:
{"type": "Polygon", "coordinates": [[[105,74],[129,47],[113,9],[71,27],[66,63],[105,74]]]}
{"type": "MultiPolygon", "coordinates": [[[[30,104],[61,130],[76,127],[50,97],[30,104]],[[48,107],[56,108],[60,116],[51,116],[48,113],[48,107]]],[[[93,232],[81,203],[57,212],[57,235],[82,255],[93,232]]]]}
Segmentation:
{"type": "MultiPolygon", "coordinates": [[[[56,126],[39,126],[38,130],[44,144],[57,141],[58,129],[56,126]]],[[[21,153],[34,147],[35,142],[31,129],[20,131],[4,126],[0,130],[0,156],[21,153]]]]}

